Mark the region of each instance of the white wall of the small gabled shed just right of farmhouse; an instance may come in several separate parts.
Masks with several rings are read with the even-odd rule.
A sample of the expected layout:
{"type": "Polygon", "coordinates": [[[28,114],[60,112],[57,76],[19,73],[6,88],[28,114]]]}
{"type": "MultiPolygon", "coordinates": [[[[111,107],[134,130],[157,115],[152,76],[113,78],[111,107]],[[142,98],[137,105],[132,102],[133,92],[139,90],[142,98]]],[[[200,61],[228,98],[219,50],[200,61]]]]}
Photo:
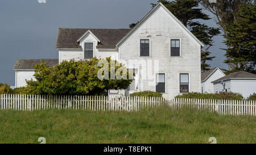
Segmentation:
{"type": "Polygon", "coordinates": [[[216,79],[222,78],[224,76],[225,76],[225,74],[223,72],[221,72],[220,69],[214,70],[214,72],[212,74],[210,74],[210,76],[204,82],[202,82],[202,86],[204,89],[203,93],[215,93],[213,83],[211,83],[211,82],[215,81],[216,79]],[[203,85],[203,83],[204,83],[204,85],[203,85]]]}

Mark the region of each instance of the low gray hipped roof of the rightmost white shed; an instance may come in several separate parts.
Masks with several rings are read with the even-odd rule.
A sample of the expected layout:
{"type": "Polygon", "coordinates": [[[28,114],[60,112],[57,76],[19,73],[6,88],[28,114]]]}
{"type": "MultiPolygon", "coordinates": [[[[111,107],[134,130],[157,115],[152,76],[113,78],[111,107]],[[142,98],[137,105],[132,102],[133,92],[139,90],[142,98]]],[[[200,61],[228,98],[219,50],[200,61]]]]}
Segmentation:
{"type": "Polygon", "coordinates": [[[227,79],[256,79],[256,75],[252,73],[240,71],[240,72],[230,73],[225,77],[216,79],[212,83],[220,82],[222,80],[227,80],[227,79]]]}

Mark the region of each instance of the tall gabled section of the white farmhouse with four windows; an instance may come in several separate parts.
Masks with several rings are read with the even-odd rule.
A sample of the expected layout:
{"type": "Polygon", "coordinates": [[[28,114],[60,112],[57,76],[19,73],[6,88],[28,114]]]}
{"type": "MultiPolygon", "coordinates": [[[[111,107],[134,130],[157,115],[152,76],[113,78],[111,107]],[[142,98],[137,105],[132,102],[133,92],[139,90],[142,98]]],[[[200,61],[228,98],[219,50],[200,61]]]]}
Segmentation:
{"type": "Polygon", "coordinates": [[[135,91],[158,91],[167,99],[201,91],[202,44],[162,4],[118,46],[119,61],[134,69],[135,91]]]}

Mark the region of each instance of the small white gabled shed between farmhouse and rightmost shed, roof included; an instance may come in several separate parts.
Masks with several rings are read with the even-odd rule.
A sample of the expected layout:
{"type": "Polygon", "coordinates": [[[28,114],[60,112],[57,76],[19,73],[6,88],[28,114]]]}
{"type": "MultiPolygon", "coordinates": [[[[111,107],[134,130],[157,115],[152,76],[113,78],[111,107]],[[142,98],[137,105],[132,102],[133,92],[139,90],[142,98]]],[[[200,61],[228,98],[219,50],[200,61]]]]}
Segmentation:
{"type": "Polygon", "coordinates": [[[214,93],[213,83],[216,79],[225,77],[226,75],[220,68],[213,68],[207,70],[207,72],[201,73],[201,92],[202,93],[214,93]]]}

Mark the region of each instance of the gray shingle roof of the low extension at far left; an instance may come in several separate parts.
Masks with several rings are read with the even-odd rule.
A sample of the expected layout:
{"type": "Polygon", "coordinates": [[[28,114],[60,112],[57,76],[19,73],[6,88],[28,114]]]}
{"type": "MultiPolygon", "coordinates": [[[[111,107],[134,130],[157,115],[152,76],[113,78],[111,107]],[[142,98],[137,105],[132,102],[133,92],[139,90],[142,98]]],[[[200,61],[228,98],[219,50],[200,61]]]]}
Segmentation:
{"type": "Polygon", "coordinates": [[[46,62],[46,65],[51,67],[59,64],[59,60],[53,59],[53,58],[40,58],[40,59],[18,58],[15,62],[14,69],[34,69],[33,66],[36,64],[40,64],[42,60],[46,62]]]}

